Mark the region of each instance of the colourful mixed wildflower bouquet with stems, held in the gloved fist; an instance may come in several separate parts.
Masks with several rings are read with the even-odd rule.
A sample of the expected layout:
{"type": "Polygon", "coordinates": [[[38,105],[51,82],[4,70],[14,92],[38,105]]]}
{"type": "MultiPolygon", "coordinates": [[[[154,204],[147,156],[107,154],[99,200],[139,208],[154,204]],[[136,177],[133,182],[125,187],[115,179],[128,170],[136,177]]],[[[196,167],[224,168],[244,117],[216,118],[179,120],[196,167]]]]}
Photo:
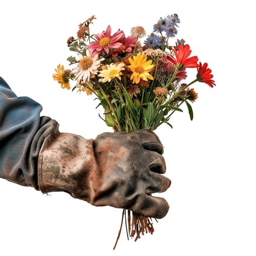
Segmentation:
{"type": "MultiPolygon", "coordinates": [[[[127,37],[120,29],[112,33],[110,25],[92,34],[94,19],[92,16],[79,24],[77,38],[68,39],[69,50],[77,56],[68,58],[72,69],[57,66],[53,78],[61,87],[70,89],[73,80],[76,84],[72,90],[96,95],[98,106],[104,109],[103,117],[99,116],[114,131],[154,131],[161,124],[172,127],[170,118],[176,111],[183,112],[183,103],[192,120],[190,103],[198,94],[191,85],[201,82],[213,87],[215,83],[207,63],[198,63],[183,39],[169,42],[178,33],[178,15],[161,17],[144,43],[140,42],[146,36],[142,26],[132,28],[127,37]],[[196,69],[196,76],[185,83],[186,69],[190,68],[196,69]]],[[[126,210],[122,223],[124,214],[126,223],[126,210]]],[[[154,231],[152,220],[144,215],[132,213],[131,218],[128,211],[127,221],[127,237],[136,235],[135,240],[140,234],[154,231]]]]}

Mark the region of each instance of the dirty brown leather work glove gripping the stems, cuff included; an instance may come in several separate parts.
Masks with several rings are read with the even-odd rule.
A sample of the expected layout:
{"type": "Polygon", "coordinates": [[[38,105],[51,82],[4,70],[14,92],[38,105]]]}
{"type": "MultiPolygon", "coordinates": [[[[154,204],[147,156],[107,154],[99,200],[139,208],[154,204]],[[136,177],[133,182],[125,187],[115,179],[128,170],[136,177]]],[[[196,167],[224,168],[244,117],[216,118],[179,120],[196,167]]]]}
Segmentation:
{"type": "Polygon", "coordinates": [[[38,185],[43,193],[65,191],[95,206],[126,208],[153,218],[169,210],[164,192],[163,145],[147,130],[102,133],[84,139],[58,129],[44,141],[38,159],[38,185]]]}

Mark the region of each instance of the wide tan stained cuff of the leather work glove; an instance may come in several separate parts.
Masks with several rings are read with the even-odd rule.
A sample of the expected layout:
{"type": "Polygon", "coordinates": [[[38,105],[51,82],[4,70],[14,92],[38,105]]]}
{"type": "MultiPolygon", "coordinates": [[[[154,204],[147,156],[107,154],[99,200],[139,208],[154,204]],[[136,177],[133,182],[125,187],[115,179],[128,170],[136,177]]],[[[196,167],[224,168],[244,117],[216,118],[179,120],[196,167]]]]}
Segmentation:
{"type": "Polygon", "coordinates": [[[43,193],[65,191],[91,201],[91,174],[97,163],[93,140],[60,133],[58,126],[45,138],[38,157],[38,186],[43,193]]]}

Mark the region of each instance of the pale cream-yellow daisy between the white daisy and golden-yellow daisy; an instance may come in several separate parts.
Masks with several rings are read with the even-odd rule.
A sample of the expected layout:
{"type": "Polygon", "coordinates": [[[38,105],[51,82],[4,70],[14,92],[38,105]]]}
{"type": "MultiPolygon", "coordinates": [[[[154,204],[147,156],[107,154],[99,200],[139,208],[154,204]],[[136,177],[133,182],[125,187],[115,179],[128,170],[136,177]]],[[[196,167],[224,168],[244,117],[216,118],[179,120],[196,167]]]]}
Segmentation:
{"type": "Polygon", "coordinates": [[[121,80],[120,76],[122,76],[124,65],[124,63],[119,63],[118,65],[111,63],[110,65],[106,65],[106,69],[99,72],[98,77],[102,77],[99,79],[99,82],[110,82],[115,77],[121,80]]]}

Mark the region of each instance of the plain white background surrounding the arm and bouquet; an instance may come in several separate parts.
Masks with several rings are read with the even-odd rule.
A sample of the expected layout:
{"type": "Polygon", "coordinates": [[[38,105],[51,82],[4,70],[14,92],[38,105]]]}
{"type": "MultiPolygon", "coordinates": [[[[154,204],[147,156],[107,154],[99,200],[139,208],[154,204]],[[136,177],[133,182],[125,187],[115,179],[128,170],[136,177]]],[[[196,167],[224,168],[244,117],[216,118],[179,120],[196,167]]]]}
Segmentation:
{"type": "MultiPolygon", "coordinates": [[[[0,255],[255,255],[255,20],[253,1],[1,1],[0,76],[18,96],[42,104],[61,132],[85,138],[111,131],[93,96],[60,89],[77,25],[95,14],[93,32],[142,25],[177,13],[178,38],[208,62],[217,86],[194,87],[194,120],[173,115],[156,133],[165,146],[163,196],[170,211],[155,233],[137,242],[123,232],[112,246],[122,210],[94,207],[64,192],[51,197],[0,180],[0,255]]],[[[196,74],[192,71],[192,75],[196,74]]],[[[193,78],[193,77],[192,77],[193,78]]],[[[123,230],[124,231],[124,230],[123,230]]]]}

